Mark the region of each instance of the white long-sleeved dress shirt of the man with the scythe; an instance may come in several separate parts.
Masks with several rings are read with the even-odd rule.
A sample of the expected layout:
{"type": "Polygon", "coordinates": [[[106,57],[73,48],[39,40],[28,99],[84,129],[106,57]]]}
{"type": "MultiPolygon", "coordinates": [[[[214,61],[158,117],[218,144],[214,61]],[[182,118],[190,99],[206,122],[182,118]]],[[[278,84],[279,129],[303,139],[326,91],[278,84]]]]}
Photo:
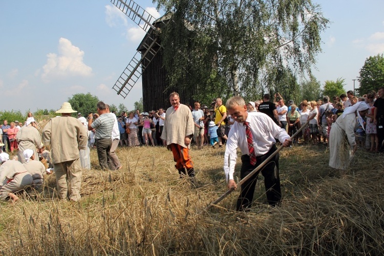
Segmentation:
{"type": "MultiPolygon", "coordinates": [[[[245,121],[249,123],[252,132],[252,144],[256,156],[268,153],[273,144],[276,143],[274,138],[278,138],[281,142],[290,138],[283,128],[276,125],[268,115],[262,112],[248,113],[247,120],[245,121]]],[[[224,172],[227,181],[233,180],[237,148],[241,150],[242,154],[249,155],[245,126],[243,123],[234,122],[232,128],[229,130],[224,154],[224,172]]]]}

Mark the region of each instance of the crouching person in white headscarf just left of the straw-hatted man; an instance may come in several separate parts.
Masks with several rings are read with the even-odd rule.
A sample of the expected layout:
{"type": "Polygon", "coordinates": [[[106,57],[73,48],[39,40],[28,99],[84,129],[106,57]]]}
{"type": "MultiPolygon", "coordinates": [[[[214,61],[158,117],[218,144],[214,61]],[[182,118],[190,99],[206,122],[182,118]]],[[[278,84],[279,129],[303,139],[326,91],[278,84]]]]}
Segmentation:
{"type": "Polygon", "coordinates": [[[23,152],[25,163],[23,164],[25,169],[31,174],[33,182],[32,187],[36,190],[40,189],[42,182],[44,181],[44,175],[46,174],[46,167],[40,161],[35,160],[35,155],[32,149],[26,149],[23,152]]]}

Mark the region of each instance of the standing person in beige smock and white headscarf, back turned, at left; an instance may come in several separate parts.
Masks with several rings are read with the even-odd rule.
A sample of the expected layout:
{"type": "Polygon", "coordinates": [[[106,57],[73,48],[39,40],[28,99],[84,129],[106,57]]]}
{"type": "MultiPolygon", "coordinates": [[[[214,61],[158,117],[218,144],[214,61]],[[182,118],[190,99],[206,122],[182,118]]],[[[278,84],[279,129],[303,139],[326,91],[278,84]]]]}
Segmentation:
{"type": "Polygon", "coordinates": [[[17,156],[19,162],[23,164],[25,163],[23,152],[26,149],[32,149],[35,159],[39,159],[38,153],[42,153],[44,150],[44,145],[41,143],[41,136],[37,130],[34,117],[29,117],[27,119],[27,126],[23,126],[17,132],[16,141],[18,143],[17,156]]]}

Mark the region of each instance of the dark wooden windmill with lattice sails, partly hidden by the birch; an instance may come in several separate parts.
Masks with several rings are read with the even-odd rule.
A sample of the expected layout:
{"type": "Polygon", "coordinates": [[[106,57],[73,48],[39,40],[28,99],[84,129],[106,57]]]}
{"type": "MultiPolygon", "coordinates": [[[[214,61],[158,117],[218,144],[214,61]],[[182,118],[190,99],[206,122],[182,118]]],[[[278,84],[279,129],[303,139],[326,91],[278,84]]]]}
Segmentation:
{"type": "Polygon", "coordinates": [[[112,89],[125,99],[140,76],[142,76],[144,110],[148,111],[170,106],[168,95],[173,91],[180,94],[182,103],[193,106],[193,100],[190,96],[193,94],[191,90],[169,88],[166,82],[166,70],[162,65],[163,56],[161,54],[162,46],[159,34],[168,19],[164,16],[159,19],[154,18],[132,0],[111,0],[111,3],[146,32],[135,56],[126,66],[112,89]]]}

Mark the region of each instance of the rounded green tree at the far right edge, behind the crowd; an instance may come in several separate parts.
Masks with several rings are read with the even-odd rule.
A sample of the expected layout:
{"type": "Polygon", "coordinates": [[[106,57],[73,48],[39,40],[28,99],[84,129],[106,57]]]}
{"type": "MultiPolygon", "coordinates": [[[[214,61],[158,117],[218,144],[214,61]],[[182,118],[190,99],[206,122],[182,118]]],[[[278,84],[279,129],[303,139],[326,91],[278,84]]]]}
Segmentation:
{"type": "Polygon", "coordinates": [[[357,81],[360,87],[356,91],[363,95],[371,90],[377,90],[384,86],[384,56],[377,54],[366,59],[364,66],[360,69],[357,81]]]}

